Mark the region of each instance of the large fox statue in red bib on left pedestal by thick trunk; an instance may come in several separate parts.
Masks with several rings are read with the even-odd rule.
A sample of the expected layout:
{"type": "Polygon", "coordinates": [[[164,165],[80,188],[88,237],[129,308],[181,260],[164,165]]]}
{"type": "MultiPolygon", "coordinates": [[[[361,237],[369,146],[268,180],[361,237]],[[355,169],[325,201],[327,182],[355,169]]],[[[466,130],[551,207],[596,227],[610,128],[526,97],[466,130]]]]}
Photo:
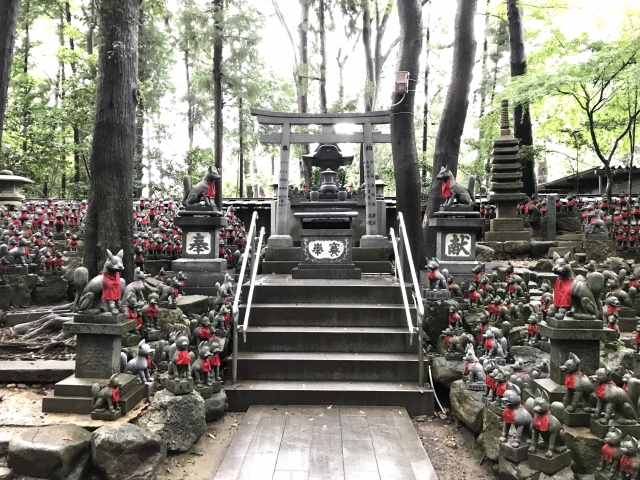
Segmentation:
{"type": "Polygon", "coordinates": [[[110,311],[112,315],[120,313],[121,299],[126,285],[125,279],[120,278],[120,272],[124,270],[123,256],[122,250],[114,255],[107,249],[107,260],[104,262],[102,273],[91,281],[86,268],[76,269],[73,273],[73,282],[76,287],[74,302],[76,311],[100,309],[110,311]]]}

